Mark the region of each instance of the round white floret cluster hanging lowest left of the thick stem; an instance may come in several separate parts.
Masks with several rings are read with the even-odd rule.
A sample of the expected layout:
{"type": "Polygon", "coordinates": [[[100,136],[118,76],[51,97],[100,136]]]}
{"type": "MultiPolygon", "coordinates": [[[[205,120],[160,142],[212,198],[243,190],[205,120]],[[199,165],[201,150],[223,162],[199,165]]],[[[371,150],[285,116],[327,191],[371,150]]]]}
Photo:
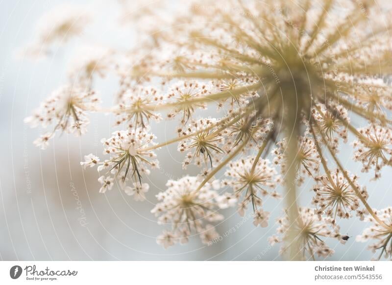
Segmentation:
{"type": "MultiPolygon", "coordinates": [[[[174,243],[188,242],[191,235],[199,235],[204,244],[218,237],[210,224],[223,219],[217,211],[222,198],[212,185],[199,188],[201,177],[184,176],[177,181],[169,180],[168,189],[157,195],[160,201],[151,213],[158,216],[158,223],[171,225],[157,242],[165,247],[174,243]]],[[[224,199],[224,198],[223,198],[224,199]]]]}

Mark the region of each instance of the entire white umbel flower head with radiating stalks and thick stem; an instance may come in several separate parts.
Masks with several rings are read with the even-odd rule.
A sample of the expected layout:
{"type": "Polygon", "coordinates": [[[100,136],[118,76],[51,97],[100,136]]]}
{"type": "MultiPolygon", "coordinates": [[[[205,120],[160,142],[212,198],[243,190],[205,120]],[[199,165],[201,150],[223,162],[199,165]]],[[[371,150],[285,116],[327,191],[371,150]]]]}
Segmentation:
{"type": "MultiPolygon", "coordinates": [[[[380,13],[383,0],[195,0],[178,5],[181,13],[166,1],[156,10],[133,2],[122,1],[130,14],[119,24],[138,27],[139,45],[82,53],[71,84],[26,118],[32,126],[54,125],[35,144],[46,148],[56,131],[84,134],[88,112],[112,112],[121,130],[102,140],[106,158],[89,154],[80,164],[98,166],[100,192],[117,184],[135,200],[156,193],[147,176],[159,167],[157,150],[177,145],[184,175],[192,165],[199,175],[169,180],[156,195],[152,213],[169,227],[157,238],[165,248],[193,235],[213,244],[213,224],[226,208],[252,210],[253,224],[268,227],[265,210],[275,203],[269,198],[282,196],[279,237],[269,240],[282,242],[285,257],[331,256],[324,239],[345,243],[341,219],[365,216],[374,226],[358,239],[375,239],[370,249],[391,257],[391,209],[370,207],[366,188],[338,156],[352,140],[362,172],[379,179],[392,165],[392,23],[380,13]],[[140,15],[130,12],[134,5],[140,15]],[[110,72],[119,79],[115,103],[98,109],[93,87],[110,72]],[[362,128],[352,123],[359,117],[355,125],[362,128]],[[151,125],[169,119],[177,127],[162,142],[151,125]],[[309,188],[309,181],[314,209],[298,205],[298,193],[306,192],[298,188],[309,188]]],[[[41,27],[38,42],[48,50],[59,39],[82,36],[90,23],[82,11],[64,9],[68,15],[41,27]]]]}

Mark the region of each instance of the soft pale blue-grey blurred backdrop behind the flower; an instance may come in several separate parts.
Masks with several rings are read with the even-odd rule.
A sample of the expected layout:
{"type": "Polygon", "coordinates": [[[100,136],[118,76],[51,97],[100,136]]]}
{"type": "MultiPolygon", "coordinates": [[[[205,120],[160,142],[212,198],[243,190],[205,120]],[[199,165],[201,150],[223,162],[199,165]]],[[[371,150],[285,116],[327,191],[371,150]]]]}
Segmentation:
{"type": "MultiPolygon", "coordinates": [[[[250,213],[240,217],[235,209],[228,209],[217,227],[222,238],[211,246],[203,245],[197,237],[167,250],[156,243],[163,227],[150,214],[157,202],[155,194],[165,190],[168,179],[185,174],[176,145],[159,150],[161,169],[151,172],[145,202],[134,201],[116,187],[98,193],[98,172],[79,165],[83,155],[101,154],[100,139],[115,130],[111,116],[92,114],[88,133],[81,138],[56,136],[45,151],[33,145],[38,130],[30,129],[23,119],[67,81],[74,49],[86,43],[73,39],[40,60],[18,56],[17,51],[32,41],[38,19],[63,2],[94,8],[94,25],[86,31],[90,43],[118,48],[137,45],[134,24],[119,25],[124,8],[118,1],[0,1],[0,259],[281,260],[279,246],[271,247],[267,238],[275,233],[275,219],[282,214],[284,201],[264,201],[265,210],[271,212],[268,228],[255,228],[250,213]],[[113,33],[114,29],[118,32],[113,33]]],[[[176,4],[171,1],[171,5],[176,4]]],[[[104,105],[111,104],[117,83],[110,76],[98,83],[104,105]]],[[[174,135],[175,125],[174,121],[153,124],[152,132],[162,142],[174,135]]],[[[357,121],[356,126],[363,125],[357,121]]],[[[372,173],[361,173],[361,166],[351,160],[349,143],[340,156],[348,169],[361,174],[372,207],[392,205],[391,168],[385,167],[382,178],[371,182],[372,173]]],[[[195,175],[197,169],[187,173],[195,175]]],[[[311,207],[312,185],[307,181],[301,188],[303,206],[311,207]]],[[[342,234],[351,238],[345,245],[333,241],[330,246],[336,253],[328,260],[369,260],[372,254],[366,250],[367,244],[355,242],[366,226],[357,218],[342,221],[342,234]]]]}

